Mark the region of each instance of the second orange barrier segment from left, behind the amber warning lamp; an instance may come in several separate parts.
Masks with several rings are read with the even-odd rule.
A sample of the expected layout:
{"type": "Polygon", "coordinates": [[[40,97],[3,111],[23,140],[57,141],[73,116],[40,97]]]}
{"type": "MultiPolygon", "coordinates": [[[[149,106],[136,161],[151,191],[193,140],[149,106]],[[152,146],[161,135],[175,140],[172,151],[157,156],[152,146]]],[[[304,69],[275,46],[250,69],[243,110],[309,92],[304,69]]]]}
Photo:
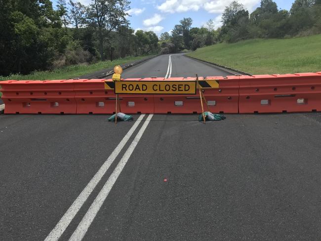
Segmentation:
{"type": "MultiPolygon", "coordinates": [[[[115,113],[116,94],[114,89],[105,89],[105,81],[105,79],[74,80],[77,114],[115,113]]],[[[113,80],[108,81],[113,82],[113,80]]],[[[154,113],[153,95],[119,95],[119,99],[123,113],[154,113]]]]}

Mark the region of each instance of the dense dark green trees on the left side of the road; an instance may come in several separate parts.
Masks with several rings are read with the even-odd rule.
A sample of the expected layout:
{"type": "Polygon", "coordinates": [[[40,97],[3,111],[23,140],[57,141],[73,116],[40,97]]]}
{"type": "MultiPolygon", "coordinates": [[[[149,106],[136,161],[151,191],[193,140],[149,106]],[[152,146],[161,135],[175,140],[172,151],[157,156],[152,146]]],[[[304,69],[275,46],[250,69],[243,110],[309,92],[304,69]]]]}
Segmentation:
{"type": "Polygon", "coordinates": [[[158,52],[158,37],[129,27],[128,0],[0,0],[0,75],[158,52]]]}

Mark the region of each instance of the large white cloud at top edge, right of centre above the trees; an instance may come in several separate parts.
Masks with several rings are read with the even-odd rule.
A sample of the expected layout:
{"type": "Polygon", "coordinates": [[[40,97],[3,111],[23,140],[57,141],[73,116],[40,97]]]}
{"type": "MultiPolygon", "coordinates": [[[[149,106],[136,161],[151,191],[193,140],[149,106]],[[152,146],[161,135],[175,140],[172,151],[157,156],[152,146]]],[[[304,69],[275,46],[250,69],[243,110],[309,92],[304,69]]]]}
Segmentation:
{"type": "MultiPolygon", "coordinates": [[[[221,14],[225,7],[233,0],[165,0],[157,8],[162,12],[175,13],[198,11],[201,8],[209,13],[221,14]]],[[[260,0],[242,0],[241,3],[248,10],[253,10],[260,0]]]]}

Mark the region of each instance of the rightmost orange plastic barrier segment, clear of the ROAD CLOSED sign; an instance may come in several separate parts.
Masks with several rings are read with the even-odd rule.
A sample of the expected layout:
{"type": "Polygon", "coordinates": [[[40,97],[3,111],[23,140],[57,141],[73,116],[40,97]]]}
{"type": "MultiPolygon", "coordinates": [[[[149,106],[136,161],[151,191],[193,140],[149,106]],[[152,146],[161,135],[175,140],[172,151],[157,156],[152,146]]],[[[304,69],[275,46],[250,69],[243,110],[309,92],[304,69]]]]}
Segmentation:
{"type": "Polygon", "coordinates": [[[321,111],[321,72],[240,77],[240,113],[321,111]]]}

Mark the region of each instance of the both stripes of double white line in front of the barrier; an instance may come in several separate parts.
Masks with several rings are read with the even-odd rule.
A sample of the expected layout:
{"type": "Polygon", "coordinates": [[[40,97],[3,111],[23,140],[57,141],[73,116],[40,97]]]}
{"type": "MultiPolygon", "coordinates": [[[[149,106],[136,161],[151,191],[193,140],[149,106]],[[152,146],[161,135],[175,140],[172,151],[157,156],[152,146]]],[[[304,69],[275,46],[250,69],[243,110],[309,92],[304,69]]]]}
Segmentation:
{"type": "MultiPolygon", "coordinates": [[[[115,148],[115,150],[112,152],[112,154],[109,156],[109,158],[104,162],[104,164],[100,167],[100,169],[96,172],[96,174],[93,176],[93,178],[90,180],[90,182],[87,184],[87,186],[82,190],[78,198],[73,202],[73,204],[68,208],[67,212],[64,214],[64,216],[60,219],[60,221],[57,223],[56,227],[50,232],[50,234],[47,236],[45,241],[58,241],[61,235],[64,233],[64,231],[67,229],[71,221],[74,219],[78,211],[80,210],[83,203],[88,199],[89,195],[92,193],[96,185],[99,183],[99,181],[102,179],[110,165],[115,161],[117,156],[119,155],[122,148],[125,146],[131,135],[134,133],[140,122],[143,120],[145,114],[141,115],[137,121],[133,124],[133,126],[130,128],[130,130],[127,132],[127,134],[124,136],[124,138],[120,141],[118,146],[115,148]]],[[[99,192],[96,199],[93,201],[91,206],[89,207],[88,211],[80,221],[80,224],[78,225],[77,229],[73,233],[73,235],[70,238],[70,241],[80,241],[84,235],[86,234],[90,224],[94,220],[96,214],[98,213],[100,207],[102,206],[103,202],[107,198],[110,190],[114,186],[117,178],[120,175],[120,172],[124,168],[126,162],[130,158],[131,154],[133,153],[135,147],[137,146],[140,138],[142,137],[145,129],[147,128],[147,125],[151,121],[153,117],[153,114],[150,114],[140,130],[138,131],[137,135],[135,136],[134,140],[126,150],[125,154],[122,156],[120,162],[116,166],[113,173],[108,178],[107,182],[105,183],[104,187],[99,192]]]]}

